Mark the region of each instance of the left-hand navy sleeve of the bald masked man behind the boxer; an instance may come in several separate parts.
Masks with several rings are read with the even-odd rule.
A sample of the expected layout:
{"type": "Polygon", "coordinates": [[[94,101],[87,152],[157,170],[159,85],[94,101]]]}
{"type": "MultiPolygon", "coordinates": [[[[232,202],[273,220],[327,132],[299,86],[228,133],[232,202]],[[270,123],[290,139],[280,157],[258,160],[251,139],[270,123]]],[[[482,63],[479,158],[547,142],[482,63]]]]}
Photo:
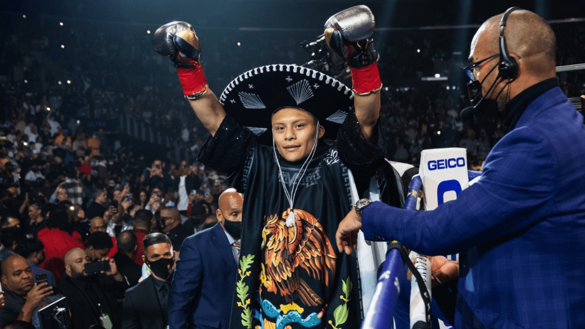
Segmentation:
{"type": "Polygon", "coordinates": [[[194,239],[187,238],[181,246],[177,259],[171,292],[168,300],[168,327],[170,329],[186,329],[187,320],[191,316],[191,304],[201,289],[203,279],[201,268],[201,252],[194,239]]]}

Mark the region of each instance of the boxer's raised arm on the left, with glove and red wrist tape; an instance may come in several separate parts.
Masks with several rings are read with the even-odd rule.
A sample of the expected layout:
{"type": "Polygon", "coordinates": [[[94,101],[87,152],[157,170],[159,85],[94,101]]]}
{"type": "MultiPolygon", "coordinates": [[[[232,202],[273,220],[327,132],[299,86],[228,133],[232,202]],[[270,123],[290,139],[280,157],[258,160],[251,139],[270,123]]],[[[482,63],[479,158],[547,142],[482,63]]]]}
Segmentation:
{"type": "Polygon", "coordinates": [[[212,136],[225,118],[225,110],[215,94],[209,90],[201,67],[201,47],[189,23],[170,22],[154,32],[154,50],[168,56],[177,68],[183,94],[195,115],[212,136]]]}

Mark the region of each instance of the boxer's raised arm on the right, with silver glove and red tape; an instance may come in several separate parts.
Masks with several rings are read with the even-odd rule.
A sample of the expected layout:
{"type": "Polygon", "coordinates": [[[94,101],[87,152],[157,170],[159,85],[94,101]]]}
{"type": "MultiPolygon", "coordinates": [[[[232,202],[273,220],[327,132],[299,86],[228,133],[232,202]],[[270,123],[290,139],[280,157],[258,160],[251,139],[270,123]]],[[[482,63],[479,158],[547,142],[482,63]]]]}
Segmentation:
{"type": "Polygon", "coordinates": [[[329,48],[345,58],[352,71],[353,104],[362,135],[372,140],[380,116],[378,52],[371,35],[374,15],[367,6],[353,6],[331,16],[325,23],[325,41],[329,48]]]}

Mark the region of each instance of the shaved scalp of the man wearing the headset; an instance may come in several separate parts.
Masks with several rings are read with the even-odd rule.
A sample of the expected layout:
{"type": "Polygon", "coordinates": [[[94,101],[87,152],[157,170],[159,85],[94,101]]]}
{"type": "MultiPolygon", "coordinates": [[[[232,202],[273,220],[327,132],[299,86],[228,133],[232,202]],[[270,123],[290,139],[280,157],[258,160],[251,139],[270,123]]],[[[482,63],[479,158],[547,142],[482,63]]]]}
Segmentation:
{"type": "MultiPolygon", "coordinates": [[[[480,54],[476,56],[476,47],[481,47],[481,53],[489,53],[484,57],[500,52],[502,15],[491,17],[477,30],[472,41],[470,60],[481,59],[480,54]]],[[[544,78],[555,76],[556,37],[541,16],[522,9],[512,11],[506,21],[504,36],[508,53],[524,61],[524,68],[529,74],[544,78]]]]}

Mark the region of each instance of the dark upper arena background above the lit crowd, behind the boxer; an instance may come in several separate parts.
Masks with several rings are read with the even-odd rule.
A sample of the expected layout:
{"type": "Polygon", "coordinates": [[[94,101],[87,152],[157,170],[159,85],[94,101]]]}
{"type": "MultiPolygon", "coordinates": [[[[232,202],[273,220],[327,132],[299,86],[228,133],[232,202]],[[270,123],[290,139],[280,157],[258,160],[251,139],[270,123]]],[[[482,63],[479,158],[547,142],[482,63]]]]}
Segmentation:
{"type": "MultiPolygon", "coordinates": [[[[418,164],[422,149],[460,146],[470,164],[481,164],[505,131],[497,117],[460,121],[469,106],[462,67],[480,23],[512,5],[550,22],[557,66],[585,62],[581,1],[9,0],[0,10],[2,138],[20,115],[41,128],[51,113],[73,140],[99,133],[105,159],[192,162],[208,133],[182,97],[170,61],[154,52],[154,30],[171,20],[191,23],[219,95],[250,68],[322,60],[324,44],[311,42],[329,16],[357,4],[376,16],[388,159],[418,164]]],[[[585,71],[558,77],[567,97],[585,94],[585,71]]],[[[30,145],[5,148],[32,154],[30,145]]]]}

